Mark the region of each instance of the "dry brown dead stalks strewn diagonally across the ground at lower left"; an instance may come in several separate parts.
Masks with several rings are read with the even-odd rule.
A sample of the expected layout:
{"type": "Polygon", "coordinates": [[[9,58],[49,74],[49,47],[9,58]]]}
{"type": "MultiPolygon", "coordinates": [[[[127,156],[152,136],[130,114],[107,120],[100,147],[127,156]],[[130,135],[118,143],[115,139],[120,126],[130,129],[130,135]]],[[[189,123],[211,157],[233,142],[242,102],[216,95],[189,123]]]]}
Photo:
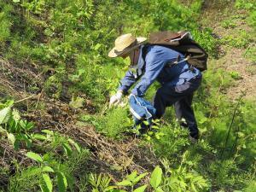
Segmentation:
{"type": "MultiPolygon", "coordinates": [[[[123,177],[120,173],[125,174],[135,170],[139,173],[151,172],[155,164],[159,163],[151,148],[140,147],[136,137],[126,137],[124,141],[113,141],[97,133],[93,126],[79,122],[78,114],[91,106],[85,105],[84,108],[74,109],[66,102],[49,98],[44,92],[44,76],[32,66],[17,66],[0,57],[0,83],[2,82],[0,96],[3,98],[14,96],[15,108],[19,108],[22,118],[35,123],[35,131],[42,129],[58,131],[61,135],[73,138],[80,146],[90,150],[89,163],[93,162],[95,165],[91,168],[94,169],[90,170],[91,172],[108,172],[113,180],[118,180],[119,177],[123,177]],[[29,88],[32,82],[38,87],[35,92],[29,88]]],[[[4,139],[5,135],[1,134],[0,132],[2,137],[0,166],[15,172],[15,167],[11,162],[14,157],[19,160],[20,166],[32,165],[32,160],[26,157],[27,148],[20,147],[20,150],[16,151],[4,139]]],[[[41,145],[42,143],[38,141],[34,144],[41,145]]],[[[7,178],[0,176],[0,184],[7,185],[7,178]]]]}

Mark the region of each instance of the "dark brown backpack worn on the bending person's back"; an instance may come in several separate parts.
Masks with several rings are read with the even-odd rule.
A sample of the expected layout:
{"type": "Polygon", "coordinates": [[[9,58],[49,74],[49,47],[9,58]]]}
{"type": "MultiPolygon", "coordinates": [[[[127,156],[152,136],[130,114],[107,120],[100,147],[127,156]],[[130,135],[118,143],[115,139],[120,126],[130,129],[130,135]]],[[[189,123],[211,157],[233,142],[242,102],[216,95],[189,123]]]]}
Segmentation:
{"type": "Polygon", "coordinates": [[[207,70],[207,52],[191,38],[190,32],[153,32],[149,36],[148,44],[174,49],[185,55],[185,60],[190,65],[201,72],[207,70]]]}

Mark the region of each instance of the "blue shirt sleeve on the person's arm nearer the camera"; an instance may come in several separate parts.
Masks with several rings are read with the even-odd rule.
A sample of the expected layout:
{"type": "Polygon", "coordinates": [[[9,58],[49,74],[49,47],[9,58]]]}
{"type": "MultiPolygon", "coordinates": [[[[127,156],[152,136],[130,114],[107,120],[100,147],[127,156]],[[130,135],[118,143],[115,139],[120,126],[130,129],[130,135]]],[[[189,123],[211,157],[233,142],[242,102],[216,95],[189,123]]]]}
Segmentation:
{"type": "Polygon", "coordinates": [[[149,86],[154,83],[159,73],[165,67],[166,61],[161,58],[161,54],[147,55],[145,73],[138,84],[131,91],[136,96],[144,96],[149,86]]]}

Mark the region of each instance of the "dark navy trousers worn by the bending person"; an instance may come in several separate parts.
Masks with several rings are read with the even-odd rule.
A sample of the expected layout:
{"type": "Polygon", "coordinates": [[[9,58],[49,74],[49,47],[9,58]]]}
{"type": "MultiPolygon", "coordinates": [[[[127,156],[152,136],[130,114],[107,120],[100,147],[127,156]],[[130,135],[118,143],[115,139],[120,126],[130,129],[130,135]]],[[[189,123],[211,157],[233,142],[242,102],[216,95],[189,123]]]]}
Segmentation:
{"type": "Polygon", "coordinates": [[[189,128],[191,137],[198,137],[198,128],[195,114],[191,107],[193,94],[201,84],[201,77],[190,79],[184,84],[171,86],[164,84],[156,91],[154,96],[154,108],[156,108],[156,118],[165,113],[166,107],[174,105],[177,119],[185,119],[181,125],[189,128]]]}

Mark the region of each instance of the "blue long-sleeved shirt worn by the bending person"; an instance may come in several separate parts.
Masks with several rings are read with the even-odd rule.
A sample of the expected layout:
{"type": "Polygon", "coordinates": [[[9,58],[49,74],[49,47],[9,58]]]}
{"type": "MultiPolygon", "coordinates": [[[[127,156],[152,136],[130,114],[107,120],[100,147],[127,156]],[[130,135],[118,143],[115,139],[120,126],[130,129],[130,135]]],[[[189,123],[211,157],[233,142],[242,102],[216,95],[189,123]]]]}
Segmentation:
{"type": "Polygon", "coordinates": [[[142,54],[143,46],[141,46],[140,50],[137,66],[130,68],[125,73],[124,79],[121,80],[119,90],[123,90],[123,92],[127,92],[131,85],[135,84],[139,79],[140,81],[131,90],[131,93],[136,96],[144,96],[148,87],[154,83],[154,80],[159,81],[162,85],[175,86],[201,75],[200,70],[195,67],[194,70],[189,70],[188,63],[183,61],[184,55],[173,49],[159,45],[149,46],[145,61],[142,54]],[[177,61],[178,55],[180,55],[179,61],[183,62],[174,64],[172,67],[166,67],[167,63],[177,61]]]}

